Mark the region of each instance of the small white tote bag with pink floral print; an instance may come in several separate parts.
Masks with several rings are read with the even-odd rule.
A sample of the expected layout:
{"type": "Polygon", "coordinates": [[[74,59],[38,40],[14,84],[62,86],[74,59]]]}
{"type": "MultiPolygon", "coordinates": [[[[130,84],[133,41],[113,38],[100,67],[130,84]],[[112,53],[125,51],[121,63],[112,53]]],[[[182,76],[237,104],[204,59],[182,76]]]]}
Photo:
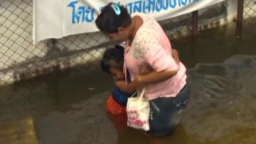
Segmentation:
{"type": "Polygon", "coordinates": [[[135,129],[149,130],[149,102],[143,97],[145,88],[141,92],[137,92],[137,97],[129,97],[127,101],[127,125],[135,129]]]}

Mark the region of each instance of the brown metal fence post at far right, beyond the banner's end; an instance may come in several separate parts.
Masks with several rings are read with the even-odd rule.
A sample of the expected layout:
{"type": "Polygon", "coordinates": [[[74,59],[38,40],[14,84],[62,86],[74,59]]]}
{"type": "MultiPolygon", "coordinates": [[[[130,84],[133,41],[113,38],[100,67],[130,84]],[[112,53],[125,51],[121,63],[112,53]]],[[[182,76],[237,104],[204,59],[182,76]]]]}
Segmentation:
{"type": "Polygon", "coordinates": [[[241,38],[243,31],[243,8],[244,0],[237,0],[236,36],[241,38]]]}

